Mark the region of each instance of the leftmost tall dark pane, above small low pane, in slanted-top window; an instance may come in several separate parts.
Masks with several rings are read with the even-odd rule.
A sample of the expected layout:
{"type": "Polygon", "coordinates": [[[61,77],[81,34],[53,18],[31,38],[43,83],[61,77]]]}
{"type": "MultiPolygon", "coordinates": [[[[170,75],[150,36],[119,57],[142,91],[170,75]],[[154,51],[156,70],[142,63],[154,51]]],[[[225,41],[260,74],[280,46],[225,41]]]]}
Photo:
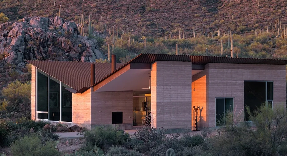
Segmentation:
{"type": "Polygon", "coordinates": [[[37,69],[37,111],[48,111],[48,75],[37,69]]]}

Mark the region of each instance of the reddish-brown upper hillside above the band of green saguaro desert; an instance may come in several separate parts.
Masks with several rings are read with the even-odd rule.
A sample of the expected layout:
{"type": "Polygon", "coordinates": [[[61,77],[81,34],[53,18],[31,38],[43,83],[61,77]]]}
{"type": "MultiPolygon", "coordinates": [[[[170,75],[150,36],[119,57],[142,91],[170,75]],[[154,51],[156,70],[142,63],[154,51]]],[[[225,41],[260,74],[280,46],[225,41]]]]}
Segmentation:
{"type": "Polygon", "coordinates": [[[12,21],[27,16],[56,17],[59,6],[61,17],[79,22],[84,5],[85,19],[92,15],[94,25],[118,24],[121,31],[137,35],[160,37],[178,34],[185,36],[193,30],[202,34],[216,32],[245,33],[255,29],[275,29],[279,19],[282,27],[287,24],[287,1],[285,0],[2,0],[0,10],[12,21]],[[259,2],[259,3],[258,3],[259,2]],[[102,17],[102,18],[101,18],[102,17]]]}

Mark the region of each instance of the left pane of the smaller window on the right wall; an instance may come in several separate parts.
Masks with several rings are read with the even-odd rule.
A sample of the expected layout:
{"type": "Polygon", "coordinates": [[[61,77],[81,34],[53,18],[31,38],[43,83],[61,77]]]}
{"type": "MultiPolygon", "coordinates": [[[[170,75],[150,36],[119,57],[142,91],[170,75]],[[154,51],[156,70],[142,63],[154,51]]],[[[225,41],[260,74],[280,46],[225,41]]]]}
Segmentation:
{"type": "Polygon", "coordinates": [[[216,126],[224,125],[224,99],[215,99],[216,126]]]}

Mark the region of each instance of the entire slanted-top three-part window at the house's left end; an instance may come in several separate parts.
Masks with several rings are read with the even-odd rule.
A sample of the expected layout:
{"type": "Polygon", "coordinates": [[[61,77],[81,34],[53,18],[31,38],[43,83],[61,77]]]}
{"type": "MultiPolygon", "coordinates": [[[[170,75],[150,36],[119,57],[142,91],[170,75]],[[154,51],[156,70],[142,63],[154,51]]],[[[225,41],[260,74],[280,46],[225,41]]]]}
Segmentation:
{"type": "Polygon", "coordinates": [[[39,69],[36,83],[37,119],[72,122],[72,93],[66,89],[70,87],[39,69]]]}

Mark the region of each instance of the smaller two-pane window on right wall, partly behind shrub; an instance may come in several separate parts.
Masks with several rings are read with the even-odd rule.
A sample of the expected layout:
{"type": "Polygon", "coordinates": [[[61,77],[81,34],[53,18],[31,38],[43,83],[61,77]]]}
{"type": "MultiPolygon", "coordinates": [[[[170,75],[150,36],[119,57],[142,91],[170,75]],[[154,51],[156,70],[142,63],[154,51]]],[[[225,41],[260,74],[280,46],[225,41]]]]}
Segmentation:
{"type": "Polygon", "coordinates": [[[228,112],[233,111],[233,98],[215,99],[216,126],[224,126],[228,112]]]}

